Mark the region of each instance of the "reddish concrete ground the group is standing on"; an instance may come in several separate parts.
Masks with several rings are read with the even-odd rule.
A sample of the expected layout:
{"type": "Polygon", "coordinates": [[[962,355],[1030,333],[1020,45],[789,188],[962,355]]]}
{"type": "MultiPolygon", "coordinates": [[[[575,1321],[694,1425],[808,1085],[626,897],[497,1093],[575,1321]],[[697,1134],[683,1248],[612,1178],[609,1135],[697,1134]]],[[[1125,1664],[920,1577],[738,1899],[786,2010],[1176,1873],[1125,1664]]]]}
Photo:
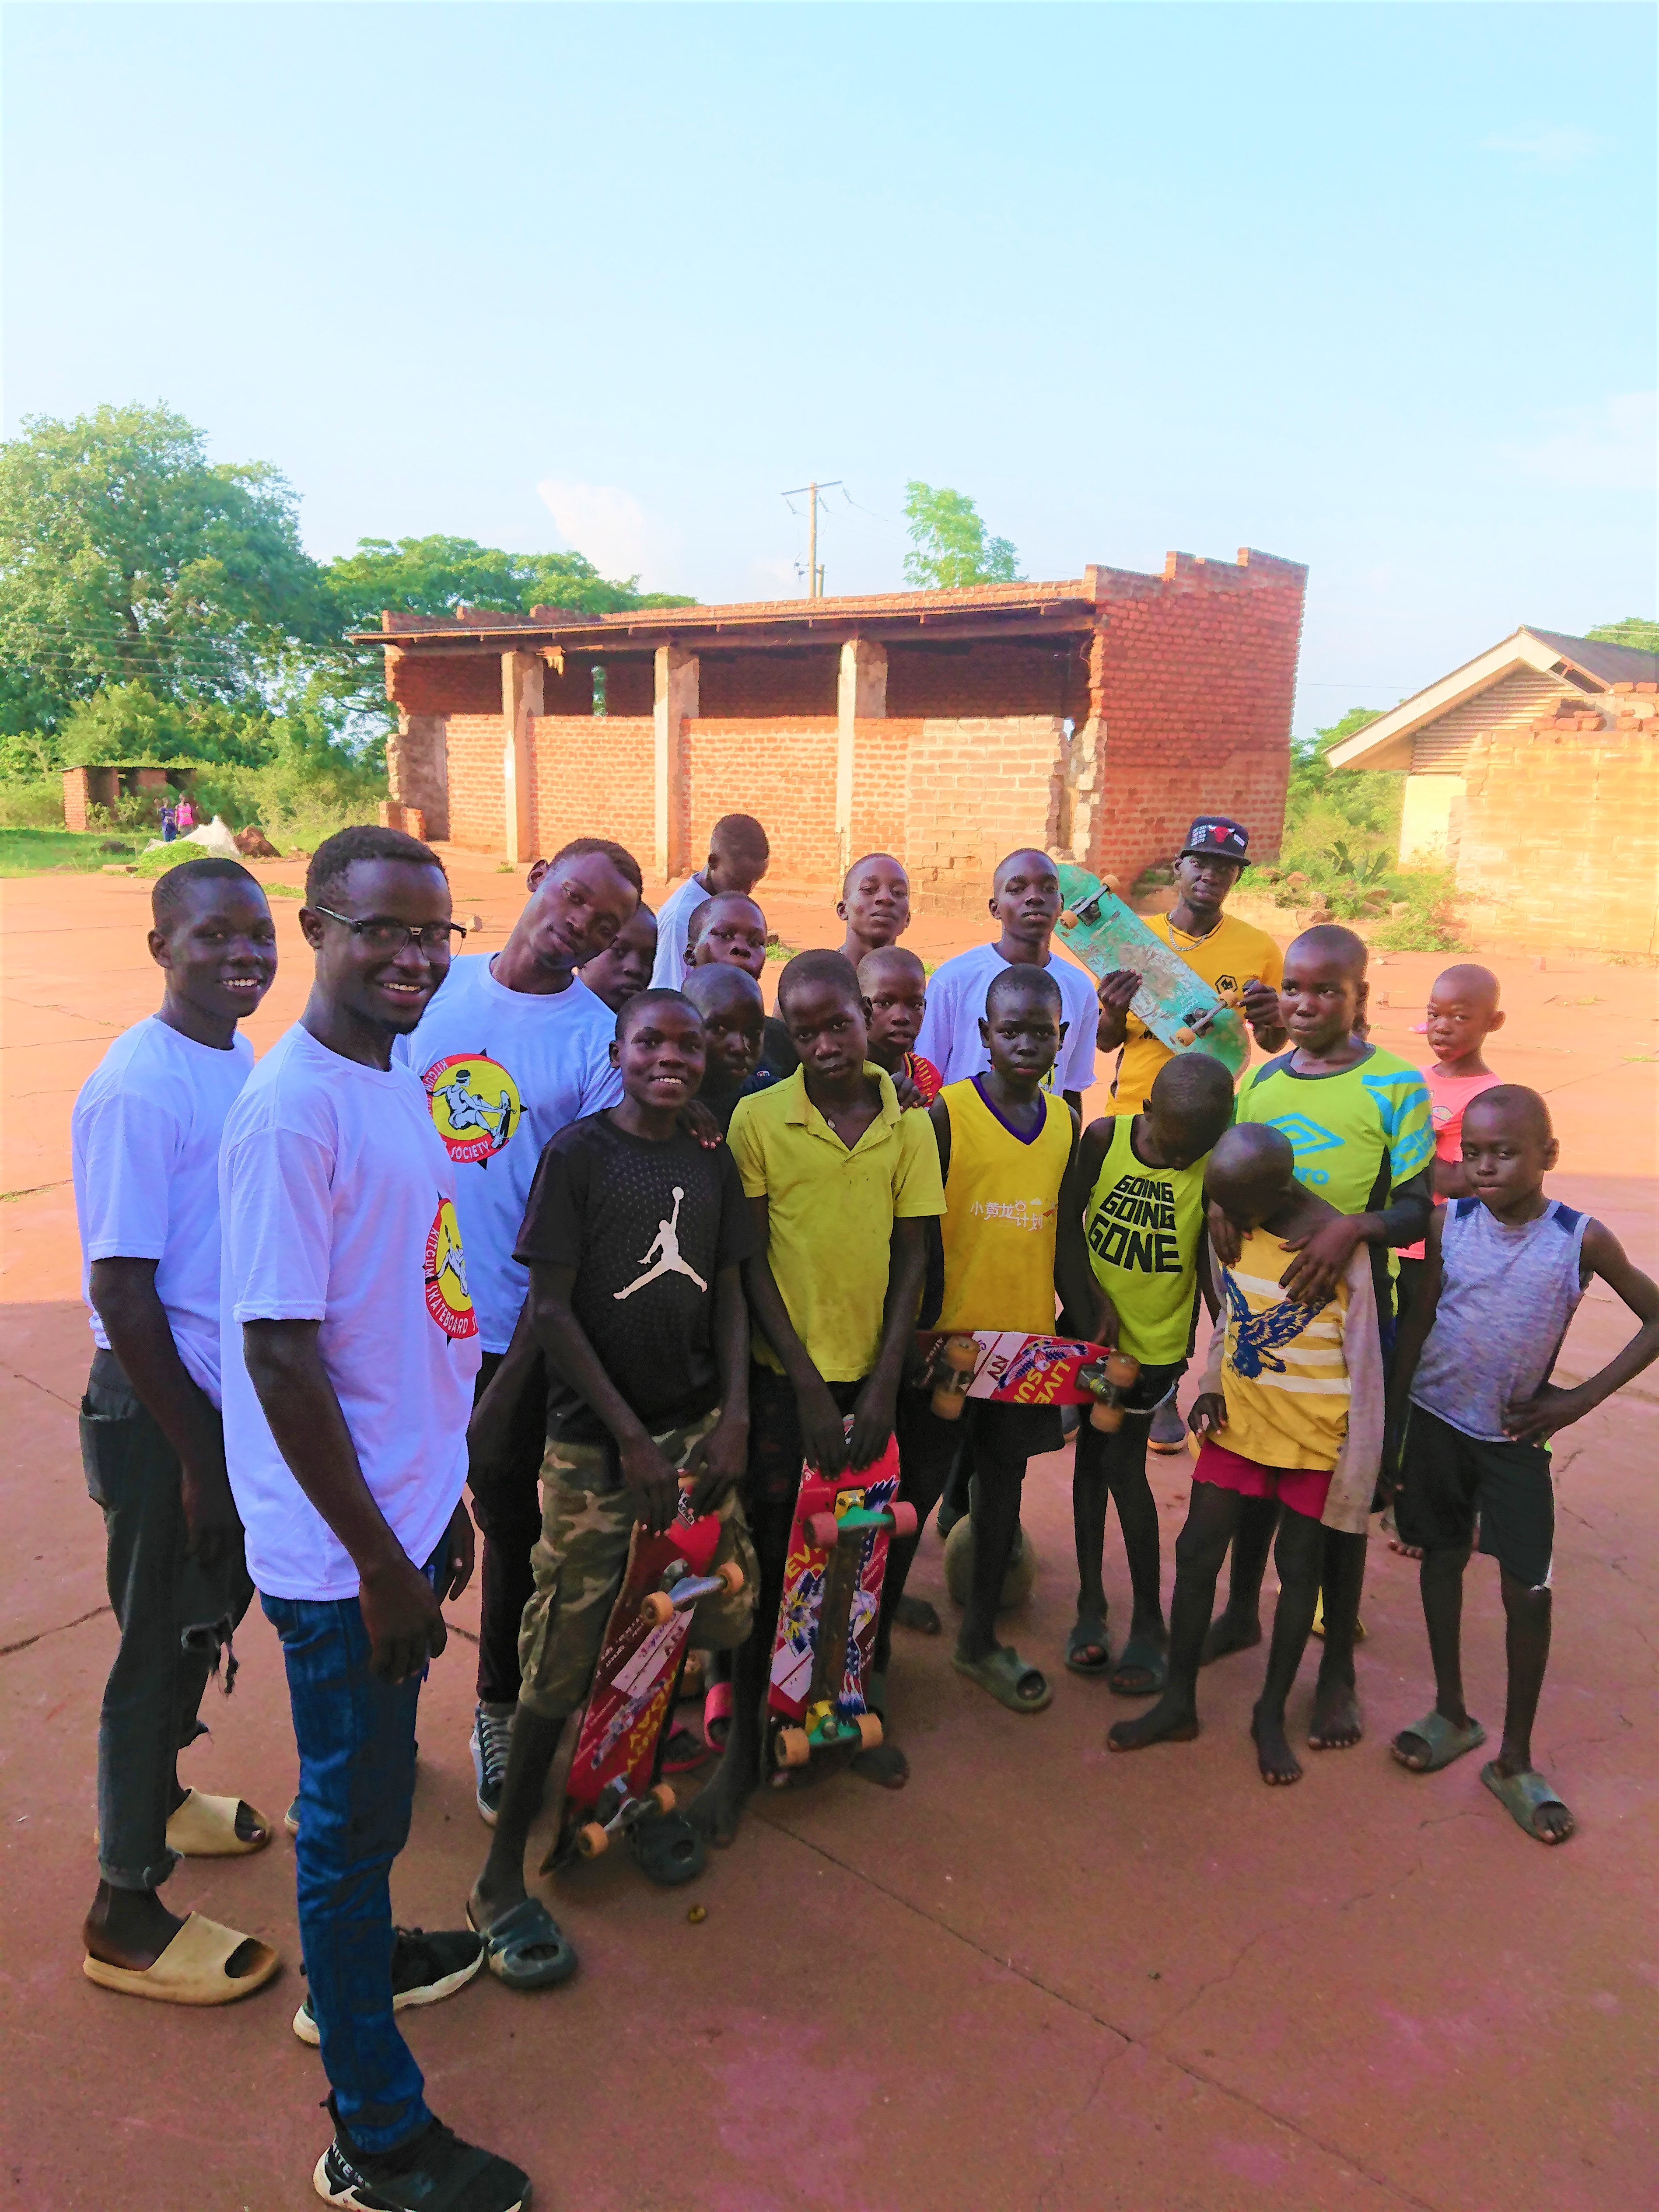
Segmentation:
{"type": "MultiPolygon", "coordinates": [[[[263,869],[276,880],[294,863],[263,869]]],[[[458,911],[500,942],[518,883],[456,856],[458,911]]],[[[0,1621],[4,1829],[4,2192],[24,2212],[299,2212],[325,2139],[323,2077],[288,2020],[285,1840],[186,1865],[168,1900],[281,1944],[272,1991],[212,2013],[106,1995],[80,1973],[95,1878],[93,1739],[111,1621],[100,1522],[75,1447],[77,1303],[69,1108],[108,1037],[157,998],[146,894],[119,878],[13,880],[4,922],[0,1394],[13,1573],[0,1621]]],[[[832,942],[827,905],[776,900],[792,945],[832,942]]],[[[918,925],[938,958],[975,936],[918,925]]],[[[478,942],[478,940],[476,940],[478,942]]],[[[305,958],[254,1024],[299,1009],[305,958]]],[[[1495,1062],[1551,1095],[1555,1190],[1655,1239],[1655,978],[1584,958],[1542,973],[1495,958],[1511,1026],[1495,1062]]],[[[1416,1051],[1431,956],[1374,971],[1383,1042],[1416,1051]]],[[[1593,1292],[1564,1369],[1626,1321],[1593,1292]]],[[[1325,2208],[1657,2205],[1659,1513],[1650,1374],[1557,1451],[1557,1663],[1540,1754],[1579,1816],[1528,1843],[1478,1761],[1411,1778],[1387,1734],[1429,1697],[1416,1575],[1374,1546],[1360,1652],[1369,1739],[1307,1759],[1287,1792],[1254,1774],[1245,1717],[1261,1659],[1206,1677],[1199,1743],[1108,1759],[1133,1710],[1060,1668],[1073,1604],[1062,1460],[1037,1462],[1042,1557],[1013,1619],[1055,1674],[1037,1719],[956,1677],[947,1644],[905,1639],[894,1730],[914,1781],[838,1778],[757,1803],[692,1893],[628,1863],[553,1889],[582,1951],[564,1991],[489,1978],[405,2015],[434,2106],[531,2168],[566,2212],[1325,2212],[1325,2208]],[[690,1924],[688,1905],[708,1907],[690,1924]]],[[[1186,1464],[1161,1462],[1172,1537],[1186,1464]]],[[[1502,1705],[1495,1575],[1471,1568],[1471,1703],[1502,1705]]],[[[916,1588],[945,1606],[929,1537],[916,1588]]],[[[1128,1599],[1115,1535],[1115,1606],[1128,1599]]],[[[471,1597],[434,1668],[420,1785],[396,1874],[403,1920],[456,1924],[484,1829],[467,1728],[471,1597]]],[[[1121,1630],[1119,1630],[1121,1635],[1121,1630]]],[[[254,1613],[234,1701],[186,1776],[279,1814],[294,1790],[276,1644],[254,1613]]],[[[1303,1697],[1307,1692],[1303,1690],[1303,1697]]]]}

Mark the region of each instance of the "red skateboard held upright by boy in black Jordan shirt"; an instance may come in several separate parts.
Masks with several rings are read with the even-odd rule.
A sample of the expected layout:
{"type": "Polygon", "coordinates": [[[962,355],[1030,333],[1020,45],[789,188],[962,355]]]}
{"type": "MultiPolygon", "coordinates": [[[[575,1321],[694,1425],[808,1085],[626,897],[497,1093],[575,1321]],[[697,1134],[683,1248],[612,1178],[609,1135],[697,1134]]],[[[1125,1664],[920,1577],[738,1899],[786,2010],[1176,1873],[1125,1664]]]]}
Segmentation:
{"type": "Polygon", "coordinates": [[[679,1511],[661,1535],[635,1526],[564,1785],[553,1863],[597,1858],[613,1836],[633,1840],[641,1820],[675,1809],[657,1759],[692,1608],[714,1590],[743,1588],[732,1559],[710,1573],[719,1540],[719,1515],[690,1511],[690,1484],[681,1484],[679,1511]]]}

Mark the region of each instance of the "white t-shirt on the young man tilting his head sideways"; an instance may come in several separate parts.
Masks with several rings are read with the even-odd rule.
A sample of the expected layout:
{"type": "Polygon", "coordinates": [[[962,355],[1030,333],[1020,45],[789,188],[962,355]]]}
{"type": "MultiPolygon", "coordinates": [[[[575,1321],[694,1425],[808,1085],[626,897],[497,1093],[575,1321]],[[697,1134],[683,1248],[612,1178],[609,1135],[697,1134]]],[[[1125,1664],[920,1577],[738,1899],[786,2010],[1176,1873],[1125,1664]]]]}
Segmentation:
{"type": "Polygon", "coordinates": [[[602,998],[580,978],[551,998],[509,991],[489,958],[449,962],[420,1026],[398,1037],[392,1057],[427,1086],[434,1128],[456,1164],[478,1340],[507,1352],[529,1290],[513,1245],[542,1146],[566,1121],[615,1106],[622,1077],[611,1066],[617,1018],[602,998]]]}

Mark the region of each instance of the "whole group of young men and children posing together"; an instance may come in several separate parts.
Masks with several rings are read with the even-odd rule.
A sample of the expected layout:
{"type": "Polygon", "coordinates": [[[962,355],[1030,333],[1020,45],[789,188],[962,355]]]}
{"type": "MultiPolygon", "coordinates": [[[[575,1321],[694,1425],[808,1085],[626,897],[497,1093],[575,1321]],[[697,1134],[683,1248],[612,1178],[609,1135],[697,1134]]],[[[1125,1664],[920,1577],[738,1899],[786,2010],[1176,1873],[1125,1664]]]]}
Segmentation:
{"type": "MultiPolygon", "coordinates": [[[[706,867],[657,916],[628,852],[577,838],[535,865],[504,947],[460,958],[436,854],[347,830],[307,869],[305,1011],[257,1064],[239,1022],[276,971],[265,894],[232,860],[157,880],[161,1011],[111,1046],[73,1124],[97,1347],[82,1442],[119,1624],[86,1973],[177,2004],[228,2002],[276,1973],[270,1944],[159,1898],[179,1856],[272,1836],[246,1801],[177,1776],[221,1666],[230,1688],[257,1590],[299,1745],[294,2028],[330,2084],[314,2174],[327,2203],[529,2201],[520,2168],[429,2112],[394,2015],[480,1962],[518,1989],[575,1971],[526,1889],[524,1849],[630,1533],[664,1528],[684,1480],[695,1509],[719,1513],[717,1557],[743,1571],[692,1624],[710,1655],[708,1732],[723,1734],[686,1816],[706,1843],[732,1840],[761,1778],[803,1462],[867,1467],[896,1436],[920,1522],[971,1464],[953,1663],[1011,1712],[1048,1705],[1046,1672],[998,1639],[995,1617],[1024,1471],[1060,1449],[1060,1413],[971,1398],[962,1422],[940,1420],[907,1380],[918,1325],[1066,1332],[1139,1360],[1124,1425],[1077,1429],[1073,1478],[1064,1661],[1148,1701],[1110,1730],[1113,1750],[1197,1734],[1206,1659],[1261,1639],[1274,1546],[1261,1774],[1301,1772],[1285,1699],[1321,1610],[1310,1741],[1358,1741],[1367,1517],[1398,1482],[1436,1705],[1394,1754],[1429,1772],[1482,1741],[1458,1666],[1478,1528],[1509,1615],[1504,1736],[1482,1778],[1537,1840],[1571,1834],[1531,1763],[1551,1619],[1546,1440],[1659,1354],[1659,1290],[1606,1228],[1544,1194],[1544,1102],[1482,1060],[1502,1022],[1495,978],[1455,967],[1436,982],[1425,1084],[1367,1037],[1358,936],[1310,929],[1281,962],[1223,914],[1245,854],[1239,823],[1194,823],[1175,905],[1152,920],[1243,998],[1267,1057],[1237,1097],[1219,1060],[1170,1055],[1137,1022],[1137,978],[1095,989],[1053,953],[1060,885],[1042,852],[1002,860],[998,936],[931,978],[898,945],[905,869],[867,856],[836,909],[843,945],[790,958],[768,1015],[754,900],[768,843],[748,816],[717,823],[706,867]],[[1121,1048],[1115,1110],[1084,1128],[1097,1046],[1121,1048]],[[1639,1332],[1557,1389],[1593,1274],[1639,1332]],[[1214,1334],[1166,1626],[1146,1451],[1199,1301],[1214,1334]],[[1108,1500],[1133,1588],[1117,1659],[1108,1500]],[[442,1606],[473,1573],[473,1520],[471,1752],[493,1838],[469,1927],[425,1936],[394,1927],[389,1867],[409,1834],[420,1681],[445,1650],[442,1606]]],[[[947,1504],[964,1509],[958,1491],[947,1504]]],[[[905,1597],[914,1553],[916,1537],[891,1544],[867,1686],[878,1712],[894,1624],[938,1628],[905,1597]]],[[[856,1765],[889,1787],[907,1776],[891,1736],[856,1765]]],[[[679,1820],[659,1823],[664,1847],[679,1820]]]]}

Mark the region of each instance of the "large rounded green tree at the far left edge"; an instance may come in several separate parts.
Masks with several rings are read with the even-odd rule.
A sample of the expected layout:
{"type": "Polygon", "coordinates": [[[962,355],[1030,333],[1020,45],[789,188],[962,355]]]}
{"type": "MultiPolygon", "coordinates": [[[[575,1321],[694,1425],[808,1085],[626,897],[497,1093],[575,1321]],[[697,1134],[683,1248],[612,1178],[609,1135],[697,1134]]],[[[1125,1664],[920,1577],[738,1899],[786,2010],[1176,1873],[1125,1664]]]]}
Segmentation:
{"type": "Polygon", "coordinates": [[[248,697],[274,657],[336,641],[265,462],[210,462],[166,407],[29,416],[0,445],[0,701],[53,728],[102,684],[248,697]]]}

